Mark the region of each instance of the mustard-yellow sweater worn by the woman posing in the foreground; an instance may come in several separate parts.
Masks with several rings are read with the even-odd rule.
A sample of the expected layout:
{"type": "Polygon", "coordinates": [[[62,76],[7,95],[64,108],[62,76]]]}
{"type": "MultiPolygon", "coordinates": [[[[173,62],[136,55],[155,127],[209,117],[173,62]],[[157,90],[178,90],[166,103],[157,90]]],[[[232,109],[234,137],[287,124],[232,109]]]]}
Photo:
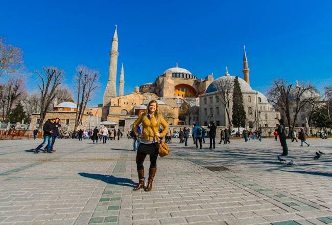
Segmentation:
{"type": "Polygon", "coordinates": [[[145,116],[144,114],[143,115],[140,115],[137,120],[134,122],[133,124],[133,128],[134,128],[134,132],[135,132],[135,135],[138,137],[139,136],[139,133],[138,133],[138,130],[137,130],[137,126],[139,124],[142,124],[143,125],[143,139],[145,140],[154,140],[156,139],[155,138],[155,135],[154,135],[154,132],[153,130],[158,133],[158,130],[159,130],[159,126],[160,124],[162,125],[163,127],[163,130],[162,132],[160,133],[160,138],[164,137],[169,129],[169,125],[167,124],[167,122],[165,121],[165,119],[159,114],[159,121],[157,121],[156,117],[153,117],[152,119],[149,119],[147,116],[145,116]],[[151,126],[150,126],[151,124],[151,126]],[[153,130],[151,129],[151,127],[153,128],[153,130]]]}

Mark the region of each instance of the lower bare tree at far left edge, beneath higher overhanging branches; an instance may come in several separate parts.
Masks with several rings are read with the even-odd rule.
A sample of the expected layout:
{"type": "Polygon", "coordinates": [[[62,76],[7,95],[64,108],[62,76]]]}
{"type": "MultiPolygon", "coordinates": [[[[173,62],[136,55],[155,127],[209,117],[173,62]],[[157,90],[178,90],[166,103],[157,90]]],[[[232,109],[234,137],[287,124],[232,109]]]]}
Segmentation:
{"type": "Polygon", "coordinates": [[[12,77],[1,85],[1,108],[2,119],[8,122],[9,114],[13,108],[13,105],[17,100],[26,92],[24,82],[21,78],[12,77]]]}

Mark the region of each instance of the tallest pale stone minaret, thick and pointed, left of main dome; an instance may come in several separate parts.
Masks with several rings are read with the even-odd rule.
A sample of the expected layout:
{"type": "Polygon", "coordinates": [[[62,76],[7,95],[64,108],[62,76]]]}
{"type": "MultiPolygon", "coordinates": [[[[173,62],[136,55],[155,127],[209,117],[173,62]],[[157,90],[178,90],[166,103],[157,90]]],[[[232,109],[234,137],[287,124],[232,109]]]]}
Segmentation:
{"type": "Polygon", "coordinates": [[[117,39],[117,26],[115,25],[115,32],[112,38],[112,47],[109,52],[109,69],[108,69],[108,81],[103,98],[103,106],[110,103],[111,98],[116,96],[116,68],[117,68],[117,51],[118,39],[117,39]]]}

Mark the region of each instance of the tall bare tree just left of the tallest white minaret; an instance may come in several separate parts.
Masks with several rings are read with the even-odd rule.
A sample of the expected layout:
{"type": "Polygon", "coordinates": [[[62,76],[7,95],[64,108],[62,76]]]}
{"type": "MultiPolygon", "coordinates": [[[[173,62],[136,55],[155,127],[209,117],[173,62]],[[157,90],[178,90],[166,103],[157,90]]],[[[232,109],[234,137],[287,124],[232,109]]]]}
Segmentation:
{"type": "Polygon", "coordinates": [[[74,130],[77,130],[77,127],[82,122],[82,116],[84,114],[87,103],[91,101],[93,91],[99,87],[98,71],[91,70],[85,65],[79,65],[76,71],[77,75],[75,78],[75,87],[77,92],[77,108],[74,130]]]}

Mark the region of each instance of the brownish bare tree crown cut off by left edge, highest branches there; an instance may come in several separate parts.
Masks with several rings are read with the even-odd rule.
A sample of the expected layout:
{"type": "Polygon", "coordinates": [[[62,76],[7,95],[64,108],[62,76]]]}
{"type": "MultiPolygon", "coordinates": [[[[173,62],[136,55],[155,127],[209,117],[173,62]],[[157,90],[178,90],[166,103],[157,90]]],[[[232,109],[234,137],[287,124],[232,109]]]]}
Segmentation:
{"type": "Polygon", "coordinates": [[[22,55],[20,48],[6,44],[6,39],[0,37],[0,77],[26,74],[22,55]]]}

